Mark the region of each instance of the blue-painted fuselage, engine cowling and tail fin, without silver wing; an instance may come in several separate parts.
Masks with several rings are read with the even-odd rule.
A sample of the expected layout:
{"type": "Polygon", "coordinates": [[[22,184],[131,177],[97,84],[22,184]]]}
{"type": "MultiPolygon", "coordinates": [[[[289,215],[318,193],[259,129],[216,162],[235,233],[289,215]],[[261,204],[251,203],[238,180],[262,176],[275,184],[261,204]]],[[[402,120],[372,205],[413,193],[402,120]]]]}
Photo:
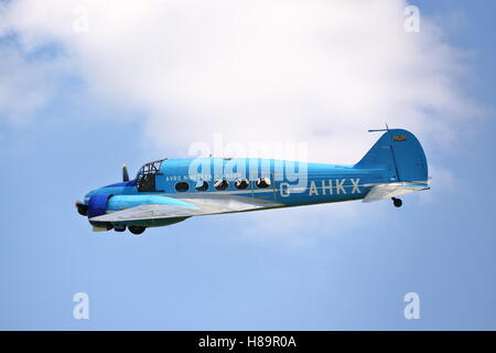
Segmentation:
{"type": "MultiPolygon", "coordinates": [[[[91,202],[99,194],[111,193],[108,199],[108,212],[141,204],[181,205],[181,201],[174,197],[188,195],[205,197],[235,195],[247,200],[274,202],[281,206],[300,206],[360,200],[374,185],[380,183],[427,184],[428,181],[423,149],[413,133],[403,129],[390,129],[382,133],[355,165],[322,163],[302,165],[298,161],[272,159],[171,159],[160,164],[160,170],[154,175],[153,191],[140,191],[139,181],[133,180],[94,190],[85,196],[85,200],[91,202]],[[298,176],[298,180],[294,176],[298,176]],[[257,185],[259,178],[267,178],[270,185],[259,188],[257,185]],[[228,182],[228,188],[216,190],[215,181],[223,179],[228,182]],[[236,188],[235,181],[239,179],[249,182],[247,189],[236,188]],[[195,190],[194,185],[198,180],[206,181],[208,189],[195,190]],[[177,191],[179,183],[187,183],[187,191],[177,191]]],[[[96,213],[91,204],[89,211],[91,217],[96,213]]],[[[98,208],[98,212],[101,210],[98,208]]]]}

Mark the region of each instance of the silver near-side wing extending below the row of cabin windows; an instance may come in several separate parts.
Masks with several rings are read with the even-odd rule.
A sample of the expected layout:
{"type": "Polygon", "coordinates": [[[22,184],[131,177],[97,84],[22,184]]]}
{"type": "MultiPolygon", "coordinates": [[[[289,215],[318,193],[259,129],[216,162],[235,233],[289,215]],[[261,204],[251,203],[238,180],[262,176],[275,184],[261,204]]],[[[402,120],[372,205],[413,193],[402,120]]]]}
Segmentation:
{"type": "Polygon", "coordinates": [[[246,196],[181,199],[187,205],[143,204],[90,218],[96,222],[126,222],[158,218],[191,217],[207,214],[246,212],[271,208],[281,204],[246,196]]]}

